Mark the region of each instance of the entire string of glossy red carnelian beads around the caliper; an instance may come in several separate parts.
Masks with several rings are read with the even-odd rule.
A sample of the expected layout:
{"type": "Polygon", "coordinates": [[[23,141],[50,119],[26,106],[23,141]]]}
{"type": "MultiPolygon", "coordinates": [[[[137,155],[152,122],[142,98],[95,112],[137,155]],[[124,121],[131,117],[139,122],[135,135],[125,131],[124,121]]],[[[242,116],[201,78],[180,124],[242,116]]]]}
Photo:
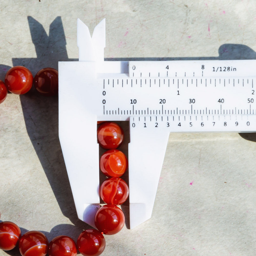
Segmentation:
{"type": "MultiPolygon", "coordinates": [[[[58,93],[58,71],[44,68],[33,78],[31,72],[22,66],[9,69],[5,82],[0,80],[0,103],[7,97],[7,89],[15,94],[28,92],[32,84],[45,96],[58,93]]],[[[101,206],[95,215],[96,229],[81,232],[77,243],[68,236],[57,236],[48,242],[40,231],[28,231],[21,235],[20,228],[13,222],[0,222],[0,249],[12,250],[16,246],[22,256],[76,256],[77,251],[84,256],[100,255],[105,249],[103,234],[118,233],[124,226],[125,218],[117,206],[123,204],[129,195],[126,182],[120,178],[128,167],[126,156],[116,148],[124,138],[122,128],[113,122],[103,122],[97,130],[99,145],[107,151],[100,158],[100,170],[108,178],[100,186],[100,196],[106,205],[101,206]]],[[[1,214],[0,214],[1,217],[1,214]]]]}

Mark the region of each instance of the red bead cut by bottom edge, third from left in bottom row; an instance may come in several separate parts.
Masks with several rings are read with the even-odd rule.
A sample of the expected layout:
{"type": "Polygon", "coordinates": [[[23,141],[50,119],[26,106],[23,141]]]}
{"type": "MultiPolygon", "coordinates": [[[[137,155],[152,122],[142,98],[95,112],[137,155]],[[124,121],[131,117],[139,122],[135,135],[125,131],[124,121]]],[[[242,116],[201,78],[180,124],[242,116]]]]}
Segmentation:
{"type": "Polygon", "coordinates": [[[76,243],[68,236],[55,237],[49,243],[48,254],[49,256],[76,256],[76,243]]]}

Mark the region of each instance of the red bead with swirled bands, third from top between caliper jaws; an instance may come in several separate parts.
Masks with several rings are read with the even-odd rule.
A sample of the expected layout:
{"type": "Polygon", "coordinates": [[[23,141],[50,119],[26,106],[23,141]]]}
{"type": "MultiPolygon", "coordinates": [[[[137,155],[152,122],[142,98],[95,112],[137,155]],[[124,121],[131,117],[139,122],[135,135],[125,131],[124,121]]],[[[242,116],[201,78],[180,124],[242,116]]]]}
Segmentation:
{"type": "Polygon", "coordinates": [[[127,183],[118,177],[108,178],[100,186],[100,197],[106,204],[121,205],[128,195],[127,183]]]}

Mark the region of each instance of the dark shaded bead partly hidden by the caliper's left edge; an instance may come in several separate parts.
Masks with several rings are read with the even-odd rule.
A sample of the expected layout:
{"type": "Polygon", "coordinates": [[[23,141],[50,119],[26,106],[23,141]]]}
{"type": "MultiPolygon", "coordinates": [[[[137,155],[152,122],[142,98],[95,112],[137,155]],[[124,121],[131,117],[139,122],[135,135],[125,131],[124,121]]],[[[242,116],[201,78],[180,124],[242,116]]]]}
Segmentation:
{"type": "Polygon", "coordinates": [[[36,90],[44,96],[58,93],[58,71],[54,68],[43,68],[34,77],[36,90]]]}

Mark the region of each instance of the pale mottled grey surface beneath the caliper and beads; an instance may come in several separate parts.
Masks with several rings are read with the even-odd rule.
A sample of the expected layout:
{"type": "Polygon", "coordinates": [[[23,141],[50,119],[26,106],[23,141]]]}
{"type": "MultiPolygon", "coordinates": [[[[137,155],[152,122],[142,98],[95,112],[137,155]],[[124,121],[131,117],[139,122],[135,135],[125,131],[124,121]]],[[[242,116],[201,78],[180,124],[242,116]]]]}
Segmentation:
{"type": "MultiPolygon", "coordinates": [[[[255,7],[249,0],[10,0],[1,4],[0,79],[8,66],[25,65],[35,75],[57,68],[58,60],[78,59],[77,18],[91,34],[106,18],[105,58],[255,58],[255,7]],[[50,27],[57,16],[65,35],[59,18],[50,27]]],[[[242,136],[250,140],[236,133],[171,134],[152,218],[105,236],[102,255],[254,255],[256,136],[242,136]]],[[[49,240],[61,234],[76,240],[88,226],[76,216],[63,162],[58,98],[34,89],[8,94],[0,105],[0,140],[1,220],[16,222],[23,233],[43,231],[49,240]]],[[[0,251],[8,254],[19,255],[0,251]]]]}

